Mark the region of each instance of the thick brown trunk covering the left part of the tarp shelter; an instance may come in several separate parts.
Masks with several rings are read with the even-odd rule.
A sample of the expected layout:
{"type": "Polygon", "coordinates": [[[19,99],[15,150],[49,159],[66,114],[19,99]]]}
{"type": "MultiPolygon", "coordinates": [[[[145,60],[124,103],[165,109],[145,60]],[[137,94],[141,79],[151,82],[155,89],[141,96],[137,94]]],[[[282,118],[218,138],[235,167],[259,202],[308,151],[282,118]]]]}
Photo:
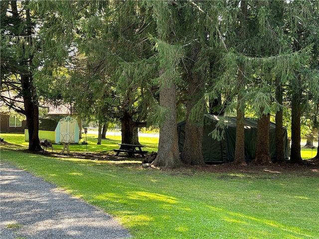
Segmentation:
{"type": "MultiPolygon", "coordinates": [[[[181,153],[181,161],[190,165],[206,166],[202,154],[203,125],[200,119],[190,119],[190,113],[196,103],[204,95],[205,78],[203,72],[194,69],[198,61],[200,43],[195,43],[189,59],[188,100],[186,105],[185,141],[181,153]]],[[[201,115],[204,114],[202,107],[201,115]]]]}

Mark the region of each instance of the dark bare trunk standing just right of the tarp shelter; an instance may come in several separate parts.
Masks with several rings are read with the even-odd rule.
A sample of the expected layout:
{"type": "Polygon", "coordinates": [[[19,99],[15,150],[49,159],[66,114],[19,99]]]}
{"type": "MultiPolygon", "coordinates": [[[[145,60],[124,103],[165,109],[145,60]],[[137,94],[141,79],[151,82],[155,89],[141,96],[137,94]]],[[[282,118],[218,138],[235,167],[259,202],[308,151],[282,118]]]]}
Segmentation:
{"type": "MultiPolygon", "coordinates": [[[[298,79],[295,79],[298,81],[298,79]]],[[[291,102],[291,163],[301,163],[301,105],[300,105],[301,91],[294,92],[291,102]]]]}

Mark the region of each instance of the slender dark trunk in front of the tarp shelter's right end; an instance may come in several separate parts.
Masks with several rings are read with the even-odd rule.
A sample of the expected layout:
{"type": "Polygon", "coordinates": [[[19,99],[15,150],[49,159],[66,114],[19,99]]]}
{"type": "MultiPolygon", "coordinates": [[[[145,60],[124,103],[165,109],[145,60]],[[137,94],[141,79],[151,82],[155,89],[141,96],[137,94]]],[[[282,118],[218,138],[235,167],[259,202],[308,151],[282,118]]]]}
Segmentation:
{"type": "MultiPolygon", "coordinates": [[[[280,80],[277,80],[276,100],[278,104],[283,105],[283,91],[280,80]]],[[[276,112],[276,162],[282,163],[285,160],[284,150],[284,129],[283,129],[283,108],[276,112]]]]}

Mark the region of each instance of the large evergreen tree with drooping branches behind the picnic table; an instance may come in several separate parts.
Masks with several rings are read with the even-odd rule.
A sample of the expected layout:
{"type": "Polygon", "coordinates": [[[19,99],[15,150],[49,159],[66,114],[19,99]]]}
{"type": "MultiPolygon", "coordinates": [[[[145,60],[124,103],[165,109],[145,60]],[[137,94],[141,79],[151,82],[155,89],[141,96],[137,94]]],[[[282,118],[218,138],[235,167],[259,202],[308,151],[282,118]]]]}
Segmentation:
{"type": "MultiPolygon", "coordinates": [[[[69,99],[78,113],[91,115],[93,110],[100,122],[104,122],[106,116],[121,120],[122,142],[137,144],[137,128],[142,125],[140,120],[147,119],[152,102],[149,92],[152,82],[148,80],[154,78],[154,66],[152,59],[148,60],[152,53],[147,41],[149,28],[152,30],[152,22],[147,17],[151,15],[140,1],[88,1],[84,5],[80,2],[36,2],[35,8],[45,19],[49,17],[44,27],[49,30],[43,34],[62,49],[74,49],[72,54],[64,52],[53,57],[55,62],[48,61],[45,66],[50,72],[73,58],[68,73],[71,77],[66,79],[68,84],[56,75],[47,80],[68,86],[62,88],[63,98],[69,99]],[[55,16],[59,17],[53,20],[55,16]],[[59,24],[67,30],[56,29],[59,24]],[[74,61],[74,56],[83,57],[83,66],[74,61]]],[[[52,54],[50,45],[52,43],[46,46],[46,55],[52,54]]],[[[45,70],[41,73],[45,74],[45,70]]],[[[43,75],[39,75],[40,78],[43,79],[43,75]]],[[[44,89],[41,82],[38,83],[44,89]]]]}

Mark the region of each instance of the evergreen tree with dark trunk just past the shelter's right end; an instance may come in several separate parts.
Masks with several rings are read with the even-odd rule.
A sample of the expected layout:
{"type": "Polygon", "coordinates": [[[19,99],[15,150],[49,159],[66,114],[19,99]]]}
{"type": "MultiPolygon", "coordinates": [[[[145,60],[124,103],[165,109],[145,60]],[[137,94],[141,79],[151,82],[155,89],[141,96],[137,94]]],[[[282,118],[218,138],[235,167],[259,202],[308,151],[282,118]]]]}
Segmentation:
{"type": "MultiPolygon", "coordinates": [[[[309,92],[318,99],[318,1],[292,1],[287,5],[287,35],[291,51],[308,49],[308,57],[299,59],[303,67],[295,68],[290,79],[292,111],[292,146],[290,161],[302,162],[301,157],[301,116],[308,104],[309,92]]],[[[316,100],[315,100],[316,101],[316,100]]]]}

